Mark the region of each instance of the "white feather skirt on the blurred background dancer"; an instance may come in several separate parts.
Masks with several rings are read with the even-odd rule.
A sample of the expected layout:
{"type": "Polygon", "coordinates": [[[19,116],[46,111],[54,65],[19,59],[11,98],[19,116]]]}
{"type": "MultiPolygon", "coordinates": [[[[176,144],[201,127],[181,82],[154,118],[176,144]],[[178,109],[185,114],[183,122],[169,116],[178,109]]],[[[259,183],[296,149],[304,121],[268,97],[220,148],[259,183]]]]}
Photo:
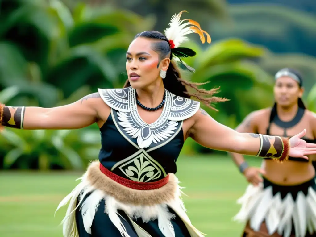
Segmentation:
{"type": "Polygon", "coordinates": [[[316,192],[312,186],[308,187],[306,196],[298,191],[294,200],[291,193],[283,199],[280,192],[273,195],[272,186],[263,188],[263,183],[258,186],[250,184],[237,203],[241,204],[241,209],[234,220],[249,221],[254,231],[259,231],[262,222],[265,222],[270,235],[277,232],[289,237],[293,227],[295,237],[316,232],[316,192]]]}

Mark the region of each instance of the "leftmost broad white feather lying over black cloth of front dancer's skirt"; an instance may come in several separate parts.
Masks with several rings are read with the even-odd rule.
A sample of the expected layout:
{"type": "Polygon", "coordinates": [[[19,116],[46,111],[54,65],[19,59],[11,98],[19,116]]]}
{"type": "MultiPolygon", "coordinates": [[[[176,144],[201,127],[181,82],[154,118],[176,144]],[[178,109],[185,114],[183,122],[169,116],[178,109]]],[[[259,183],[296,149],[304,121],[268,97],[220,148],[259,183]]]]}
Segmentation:
{"type": "Polygon", "coordinates": [[[105,193],[101,190],[94,190],[90,196],[82,203],[81,215],[83,225],[88,234],[91,234],[91,225],[97,212],[100,201],[104,198],[105,193]]]}

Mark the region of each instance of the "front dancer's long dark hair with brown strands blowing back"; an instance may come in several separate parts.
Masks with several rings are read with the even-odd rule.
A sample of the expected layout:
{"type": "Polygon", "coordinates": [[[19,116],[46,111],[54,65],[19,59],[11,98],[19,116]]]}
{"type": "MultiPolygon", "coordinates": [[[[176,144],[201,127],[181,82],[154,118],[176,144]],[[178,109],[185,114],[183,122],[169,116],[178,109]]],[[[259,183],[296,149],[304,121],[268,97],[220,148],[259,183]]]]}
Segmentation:
{"type": "MultiPolygon", "coordinates": [[[[170,60],[172,59],[173,54],[171,53],[169,40],[161,32],[152,31],[152,30],[144,31],[142,33],[138,33],[137,35],[135,35],[134,39],[138,37],[157,40],[157,42],[153,42],[152,49],[159,54],[160,61],[166,58],[169,54],[170,54],[170,60]]],[[[194,82],[188,82],[182,79],[179,68],[173,61],[170,61],[169,67],[167,69],[166,78],[163,79],[163,84],[165,88],[171,93],[178,96],[185,97],[185,98],[195,97],[198,100],[202,101],[206,106],[218,111],[213,106],[211,106],[211,103],[223,102],[223,101],[227,101],[228,99],[212,96],[213,94],[219,92],[219,88],[213,88],[211,90],[198,88],[198,86],[204,85],[206,83],[208,82],[194,83],[194,82]],[[188,92],[187,87],[195,89],[196,92],[195,93],[188,92]],[[210,97],[206,97],[206,96],[210,96],[210,97]]],[[[129,87],[129,86],[131,86],[130,82],[126,80],[124,88],[129,87]]]]}

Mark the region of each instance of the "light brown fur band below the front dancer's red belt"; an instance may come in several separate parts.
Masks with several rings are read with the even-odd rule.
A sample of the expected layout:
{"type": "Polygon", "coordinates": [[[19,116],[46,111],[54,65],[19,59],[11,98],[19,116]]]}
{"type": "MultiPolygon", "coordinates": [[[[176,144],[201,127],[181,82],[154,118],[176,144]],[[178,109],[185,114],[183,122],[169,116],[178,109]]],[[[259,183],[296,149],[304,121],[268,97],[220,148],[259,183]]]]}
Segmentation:
{"type": "Polygon", "coordinates": [[[178,179],[173,173],[169,173],[169,181],[161,188],[153,190],[135,190],[121,185],[107,177],[100,171],[100,162],[94,161],[88,167],[84,175],[90,185],[104,191],[121,203],[133,205],[155,205],[168,203],[175,198],[178,187],[178,179]]]}

